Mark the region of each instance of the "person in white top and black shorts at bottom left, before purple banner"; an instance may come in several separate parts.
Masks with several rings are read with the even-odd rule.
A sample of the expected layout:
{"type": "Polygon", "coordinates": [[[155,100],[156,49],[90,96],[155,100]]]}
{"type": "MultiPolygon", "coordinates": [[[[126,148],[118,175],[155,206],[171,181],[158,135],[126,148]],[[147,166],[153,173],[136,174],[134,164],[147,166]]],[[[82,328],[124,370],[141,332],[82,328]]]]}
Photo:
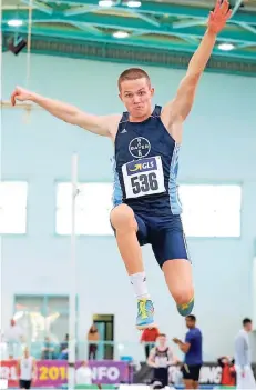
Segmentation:
{"type": "Polygon", "coordinates": [[[37,364],[28,348],[24,349],[23,356],[18,360],[17,366],[20,389],[30,389],[37,372],[37,364]]]}

